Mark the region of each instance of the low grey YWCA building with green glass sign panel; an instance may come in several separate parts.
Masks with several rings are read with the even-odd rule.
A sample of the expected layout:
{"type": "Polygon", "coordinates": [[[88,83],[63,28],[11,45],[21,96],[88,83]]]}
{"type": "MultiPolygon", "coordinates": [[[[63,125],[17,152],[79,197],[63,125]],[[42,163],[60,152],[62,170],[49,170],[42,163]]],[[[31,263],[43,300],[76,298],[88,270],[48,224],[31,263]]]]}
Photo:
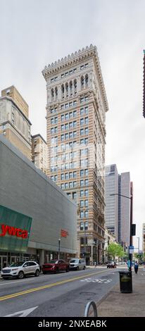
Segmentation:
{"type": "Polygon", "coordinates": [[[77,206],[0,135],[0,268],[77,254],[77,206]],[[4,231],[4,227],[6,231],[4,231]]]}

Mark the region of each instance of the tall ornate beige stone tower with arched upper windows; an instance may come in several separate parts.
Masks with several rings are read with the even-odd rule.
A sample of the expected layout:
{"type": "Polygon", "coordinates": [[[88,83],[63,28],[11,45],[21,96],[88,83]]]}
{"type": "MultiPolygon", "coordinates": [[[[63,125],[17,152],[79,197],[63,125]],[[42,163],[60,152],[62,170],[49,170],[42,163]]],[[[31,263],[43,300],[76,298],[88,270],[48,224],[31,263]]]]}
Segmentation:
{"type": "Polygon", "coordinates": [[[105,119],[108,102],[96,46],[45,66],[47,175],[77,202],[77,255],[104,250],[105,119]]]}

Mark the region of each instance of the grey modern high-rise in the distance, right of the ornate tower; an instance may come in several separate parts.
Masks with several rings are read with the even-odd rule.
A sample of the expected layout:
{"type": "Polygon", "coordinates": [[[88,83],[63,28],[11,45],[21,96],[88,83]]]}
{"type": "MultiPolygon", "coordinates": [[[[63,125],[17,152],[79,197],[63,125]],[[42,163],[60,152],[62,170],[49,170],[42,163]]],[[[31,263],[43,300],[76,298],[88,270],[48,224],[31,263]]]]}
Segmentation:
{"type": "Polygon", "coordinates": [[[130,244],[131,194],[133,196],[133,183],[130,182],[130,173],[121,173],[119,175],[115,164],[107,165],[105,208],[106,227],[113,233],[113,235],[115,235],[115,239],[124,247],[127,247],[130,244]]]}

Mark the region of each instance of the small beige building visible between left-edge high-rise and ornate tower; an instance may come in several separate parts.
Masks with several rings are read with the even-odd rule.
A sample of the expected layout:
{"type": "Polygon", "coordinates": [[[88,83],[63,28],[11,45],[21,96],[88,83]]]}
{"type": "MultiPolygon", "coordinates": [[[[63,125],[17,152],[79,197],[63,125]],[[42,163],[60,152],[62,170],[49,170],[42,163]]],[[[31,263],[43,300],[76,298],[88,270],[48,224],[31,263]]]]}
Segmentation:
{"type": "Polygon", "coordinates": [[[32,162],[37,168],[46,173],[47,144],[41,135],[32,136],[32,162]]]}

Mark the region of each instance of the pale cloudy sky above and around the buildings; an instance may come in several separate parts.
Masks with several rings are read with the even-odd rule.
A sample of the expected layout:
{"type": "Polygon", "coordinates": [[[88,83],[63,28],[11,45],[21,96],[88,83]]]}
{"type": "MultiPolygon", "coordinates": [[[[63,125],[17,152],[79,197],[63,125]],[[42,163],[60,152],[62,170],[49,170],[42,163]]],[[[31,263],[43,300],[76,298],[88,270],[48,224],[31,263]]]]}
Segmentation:
{"type": "Polygon", "coordinates": [[[106,164],[116,163],[119,173],[130,171],[140,242],[145,222],[144,31],[144,0],[0,0],[0,90],[15,85],[23,95],[33,135],[39,132],[46,139],[44,66],[89,44],[97,46],[109,105],[106,164]]]}

